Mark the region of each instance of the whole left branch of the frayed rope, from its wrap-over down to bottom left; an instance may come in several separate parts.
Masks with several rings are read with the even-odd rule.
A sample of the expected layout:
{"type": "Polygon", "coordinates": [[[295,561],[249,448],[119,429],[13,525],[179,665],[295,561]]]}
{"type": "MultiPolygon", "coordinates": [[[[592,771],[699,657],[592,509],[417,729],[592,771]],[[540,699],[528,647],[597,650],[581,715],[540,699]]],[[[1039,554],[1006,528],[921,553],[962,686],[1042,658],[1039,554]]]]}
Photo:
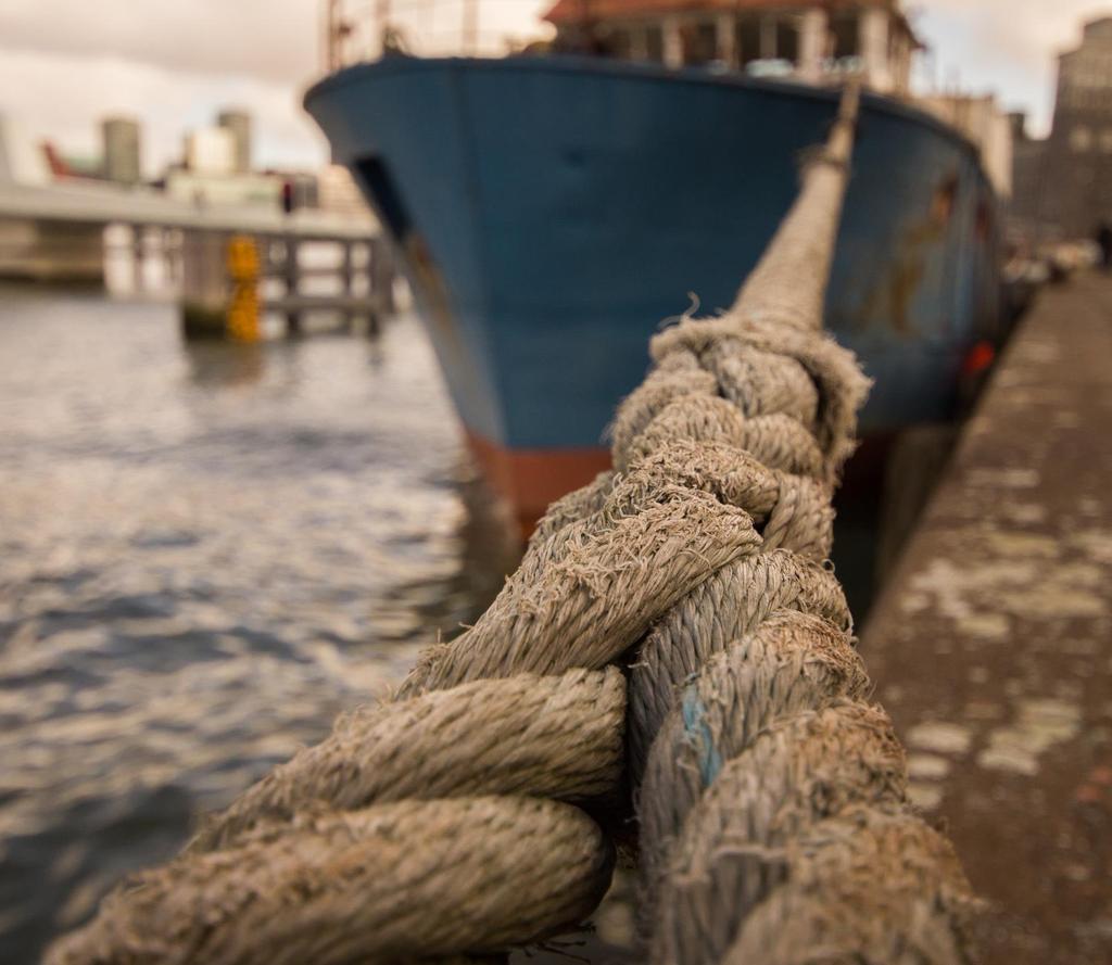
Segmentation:
{"type": "Polygon", "coordinates": [[[327,963],[346,961],[355,947],[367,962],[446,956],[525,944],[582,918],[608,883],[609,844],[582,812],[517,796],[613,798],[623,682],[614,669],[589,671],[620,657],[709,578],[757,559],[763,540],[739,503],[784,538],[827,545],[824,491],[728,447],[663,447],[609,485],[585,518],[535,539],[490,609],[456,641],[430,649],[397,702],[341,720],[332,737],[211,818],[176,862],[107,902],[49,961],[268,962],[289,954],[327,963]],[[463,843],[448,832],[423,836],[415,823],[377,820],[396,816],[383,808],[403,799],[426,803],[425,818],[466,833],[463,843]],[[537,823],[528,835],[523,813],[537,823]],[[384,827],[391,842],[410,837],[388,848],[376,830],[384,827]],[[506,857],[469,864],[456,852],[437,856],[449,842],[506,857]],[[363,855],[358,868],[346,863],[351,849],[363,855]],[[557,893],[529,885],[537,850],[546,854],[546,875],[554,863],[566,865],[557,893]],[[410,873],[417,858],[424,863],[410,873]],[[371,878],[398,885],[384,892],[371,878]],[[507,892],[513,901],[492,897],[507,892]],[[399,921],[398,902],[450,909],[474,894],[490,901],[485,916],[460,918],[447,934],[414,929],[403,951],[398,934],[383,926],[387,912],[377,903],[387,893],[388,914],[399,921]],[[230,902],[231,894],[248,897],[230,902]]]}

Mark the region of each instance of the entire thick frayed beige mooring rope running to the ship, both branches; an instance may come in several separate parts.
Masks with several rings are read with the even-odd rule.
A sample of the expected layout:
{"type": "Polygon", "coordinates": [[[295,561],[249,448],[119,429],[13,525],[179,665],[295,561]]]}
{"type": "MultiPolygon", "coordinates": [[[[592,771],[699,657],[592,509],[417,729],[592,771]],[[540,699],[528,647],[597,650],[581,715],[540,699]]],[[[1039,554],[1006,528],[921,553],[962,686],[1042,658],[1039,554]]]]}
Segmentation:
{"type": "Polygon", "coordinates": [[[569,802],[613,800],[625,688],[602,668],[637,644],[629,763],[655,961],[956,961],[960,869],[906,812],[821,563],[865,389],[814,330],[848,127],[734,311],[654,340],[615,471],[554,505],[476,626],[50,963],[450,959],[577,922],[613,853],[569,802]],[[877,897],[874,874],[895,886],[877,897]]]}

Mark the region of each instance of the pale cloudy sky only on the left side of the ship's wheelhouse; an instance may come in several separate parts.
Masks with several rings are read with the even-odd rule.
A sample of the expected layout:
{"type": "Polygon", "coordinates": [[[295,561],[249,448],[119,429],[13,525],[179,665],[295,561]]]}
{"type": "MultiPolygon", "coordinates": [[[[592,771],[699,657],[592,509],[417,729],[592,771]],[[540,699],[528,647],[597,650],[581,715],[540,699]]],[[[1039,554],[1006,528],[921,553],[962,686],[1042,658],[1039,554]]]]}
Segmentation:
{"type": "MultiPolygon", "coordinates": [[[[439,4],[440,31],[458,31],[460,3],[439,4]]],[[[484,31],[520,34],[546,2],[486,7],[484,31]]],[[[328,149],[300,100],[321,69],[322,8],[322,0],[0,0],[0,111],[87,155],[99,150],[101,117],[135,115],[145,168],[156,173],[180,156],[187,128],[245,106],[257,162],[316,166],[328,149]]]]}

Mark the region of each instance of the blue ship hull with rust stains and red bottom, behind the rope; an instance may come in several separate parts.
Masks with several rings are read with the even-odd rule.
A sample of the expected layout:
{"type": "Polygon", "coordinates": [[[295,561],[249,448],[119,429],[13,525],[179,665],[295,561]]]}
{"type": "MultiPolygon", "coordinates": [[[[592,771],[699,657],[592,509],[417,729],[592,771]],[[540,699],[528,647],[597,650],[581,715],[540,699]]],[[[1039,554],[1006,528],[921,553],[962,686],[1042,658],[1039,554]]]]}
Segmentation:
{"type": "MultiPolygon", "coordinates": [[[[605,464],[648,336],[725,308],[837,93],[578,58],[344,70],[306,107],[390,230],[459,415],[524,515],[605,464]]],[[[949,418],[999,319],[996,199],[950,128],[867,97],[827,327],[876,387],[866,431],[949,418]]]]}

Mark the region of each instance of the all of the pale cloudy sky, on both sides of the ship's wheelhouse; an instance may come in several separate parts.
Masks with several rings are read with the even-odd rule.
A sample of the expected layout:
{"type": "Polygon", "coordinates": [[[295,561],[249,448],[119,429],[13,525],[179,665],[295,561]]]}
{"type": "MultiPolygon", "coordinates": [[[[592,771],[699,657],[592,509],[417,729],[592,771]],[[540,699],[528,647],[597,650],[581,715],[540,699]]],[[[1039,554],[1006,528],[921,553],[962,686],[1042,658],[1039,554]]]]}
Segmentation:
{"type": "MultiPolygon", "coordinates": [[[[361,0],[370,7],[371,0],[361,0]]],[[[438,2],[440,26],[460,0],[438,2]]],[[[522,34],[547,0],[485,0],[485,28],[522,34]]],[[[1053,52],[1112,0],[921,0],[909,4],[939,81],[995,90],[1049,123],[1053,52]]],[[[146,167],[180,152],[222,106],[256,118],[257,161],[315,166],[327,148],[300,109],[319,71],[322,0],[0,0],[0,112],[63,151],[93,155],[108,112],[145,125],[146,167]]],[[[927,71],[929,72],[929,71],[927,71]]]]}

